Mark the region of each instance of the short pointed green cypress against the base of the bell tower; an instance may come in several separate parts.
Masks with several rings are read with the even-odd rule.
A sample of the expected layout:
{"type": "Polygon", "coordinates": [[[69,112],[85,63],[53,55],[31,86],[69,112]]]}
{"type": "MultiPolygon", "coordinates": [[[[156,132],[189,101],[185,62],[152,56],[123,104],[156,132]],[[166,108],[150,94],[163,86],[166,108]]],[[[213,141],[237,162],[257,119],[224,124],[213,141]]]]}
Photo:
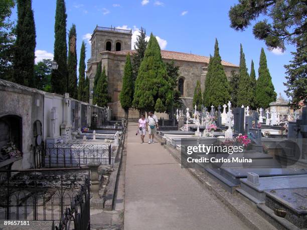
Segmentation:
{"type": "Polygon", "coordinates": [[[96,93],[95,93],[95,102],[94,104],[97,104],[98,106],[107,106],[107,104],[110,102],[111,98],[108,94],[108,81],[107,76],[105,74],[105,68],[103,66],[103,70],[101,72],[101,75],[98,79],[97,87],[96,87],[96,93]]]}

